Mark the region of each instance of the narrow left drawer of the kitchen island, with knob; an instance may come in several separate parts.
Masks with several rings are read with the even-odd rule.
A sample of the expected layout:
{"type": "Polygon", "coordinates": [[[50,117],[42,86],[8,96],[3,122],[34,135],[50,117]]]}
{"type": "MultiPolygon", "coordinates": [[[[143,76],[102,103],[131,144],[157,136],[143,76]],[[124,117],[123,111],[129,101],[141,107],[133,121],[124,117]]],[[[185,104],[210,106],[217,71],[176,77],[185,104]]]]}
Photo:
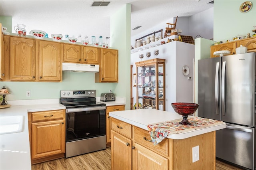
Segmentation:
{"type": "Polygon", "coordinates": [[[132,125],[112,118],[111,127],[112,130],[127,136],[128,138],[132,138],[132,125]]]}

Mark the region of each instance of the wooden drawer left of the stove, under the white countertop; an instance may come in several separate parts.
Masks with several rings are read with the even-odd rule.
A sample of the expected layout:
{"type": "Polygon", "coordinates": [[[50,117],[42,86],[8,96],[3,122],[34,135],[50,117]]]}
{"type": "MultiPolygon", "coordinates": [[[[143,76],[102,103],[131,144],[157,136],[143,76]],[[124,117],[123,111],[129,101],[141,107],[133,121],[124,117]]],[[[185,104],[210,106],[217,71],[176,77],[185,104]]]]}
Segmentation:
{"type": "Polygon", "coordinates": [[[65,114],[64,110],[33,112],[32,122],[47,121],[47,120],[53,120],[53,119],[64,119],[64,114],[65,114]]]}

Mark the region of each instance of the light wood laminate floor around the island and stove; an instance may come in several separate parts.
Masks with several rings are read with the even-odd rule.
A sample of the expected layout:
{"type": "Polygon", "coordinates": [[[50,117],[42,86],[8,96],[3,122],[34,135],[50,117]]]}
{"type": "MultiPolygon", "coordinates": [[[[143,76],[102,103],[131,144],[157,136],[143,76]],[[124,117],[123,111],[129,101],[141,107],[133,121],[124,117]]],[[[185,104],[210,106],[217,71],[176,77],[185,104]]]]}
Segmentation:
{"type": "MultiPolygon", "coordinates": [[[[111,170],[111,148],[35,164],[32,170],[111,170]]],[[[216,170],[242,169],[216,159],[216,170]]]]}

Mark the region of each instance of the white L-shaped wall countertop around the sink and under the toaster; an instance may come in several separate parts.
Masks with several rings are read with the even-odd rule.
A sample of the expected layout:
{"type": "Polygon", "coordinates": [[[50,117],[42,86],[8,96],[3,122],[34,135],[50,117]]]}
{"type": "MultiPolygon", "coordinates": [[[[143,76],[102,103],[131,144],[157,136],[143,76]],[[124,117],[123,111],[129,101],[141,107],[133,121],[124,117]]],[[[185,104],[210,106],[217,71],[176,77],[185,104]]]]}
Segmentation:
{"type": "MultiPolygon", "coordinates": [[[[106,106],[125,105],[125,98],[116,97],[116,101],[102,102],[106,106]]],[[[8,101],[9,108],[0,109],[0,117],[24,116],[23,131],[0,135],[0,170],[31,170],[30,144],[28,134],[28,112],[66,109],[59,99],[36,99],[8,101]],[[40,103],[40,104],[38,104],[40,103]]]]}

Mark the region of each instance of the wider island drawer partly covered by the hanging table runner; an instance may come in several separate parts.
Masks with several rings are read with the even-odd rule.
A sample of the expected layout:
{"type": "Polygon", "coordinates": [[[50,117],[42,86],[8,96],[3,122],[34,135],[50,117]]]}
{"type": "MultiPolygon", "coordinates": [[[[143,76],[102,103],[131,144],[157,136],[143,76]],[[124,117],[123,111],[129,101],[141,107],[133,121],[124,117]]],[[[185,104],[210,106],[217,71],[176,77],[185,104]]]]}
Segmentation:
{"type": "Polygon", "coordinates": [[[167,138],[162,140],[156,146],[154,146],[154,144],[148,140],[151,140],[151,137],[147,130],[134,127],[134,142],[141,144],[142,146],[149,148],[154,152],[168,156],[168,139],[167,138]]]}

